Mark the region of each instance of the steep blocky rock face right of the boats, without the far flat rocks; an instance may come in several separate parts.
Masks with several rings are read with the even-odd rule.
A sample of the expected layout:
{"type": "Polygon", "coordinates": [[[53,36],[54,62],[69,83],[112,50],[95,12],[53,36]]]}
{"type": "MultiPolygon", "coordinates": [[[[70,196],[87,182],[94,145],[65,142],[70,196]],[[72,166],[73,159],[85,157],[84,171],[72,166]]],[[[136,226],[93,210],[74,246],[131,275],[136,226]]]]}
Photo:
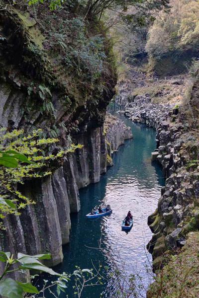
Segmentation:
{"type": "Polygon", "coordinates": [[[168,248],[186,243],[186,234],[199,227],[199,173],[197,164],[191,168],[190,159],[197,159],[198,141],[182,123],[169,120],[157,129],[157,160],[166,178],[157,210],[149,216],[148,224],[154,233],[147,248],[152,253],[154,267],[158,268],[168,248]]]}

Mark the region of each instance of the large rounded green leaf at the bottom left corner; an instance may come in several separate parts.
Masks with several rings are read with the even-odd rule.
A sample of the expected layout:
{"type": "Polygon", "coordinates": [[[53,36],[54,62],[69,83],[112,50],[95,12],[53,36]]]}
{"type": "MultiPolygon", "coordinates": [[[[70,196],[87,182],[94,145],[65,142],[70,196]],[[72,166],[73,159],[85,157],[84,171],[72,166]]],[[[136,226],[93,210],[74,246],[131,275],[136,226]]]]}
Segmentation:
{"type": "Polygon", "coordinates": [[[23,298],[23,289],[11,278],[0,282],[0,295],[7,298],[23,298]]]}

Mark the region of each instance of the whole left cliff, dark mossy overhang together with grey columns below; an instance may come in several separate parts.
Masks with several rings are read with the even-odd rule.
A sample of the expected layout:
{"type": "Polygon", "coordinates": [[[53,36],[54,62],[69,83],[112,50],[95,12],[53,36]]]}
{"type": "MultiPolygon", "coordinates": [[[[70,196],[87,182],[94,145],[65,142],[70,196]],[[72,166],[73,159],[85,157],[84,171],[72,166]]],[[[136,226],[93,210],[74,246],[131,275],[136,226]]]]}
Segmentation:
{"type": "MultiPolygon", "coordinates": [[[[0,1],[0,5],[3,3],[0,1]]],[[[115,118],[107,120],[111,125],[108,124],[106,133],[103,131],[106,106],[116,83],[111,45],[106,37],[100,39],[100,46],[97,44],[98,51],[101,47],[104,53],[103,68],[98,75],[90,69],[88,76],[81,69],[78,74],[77,68],[68,66],[60,58],[67,59],[69,54],[64,50],[66,44],[58,46],[57,40],[54,41],[53,26],[69,30],[66,24],[63,28],[63,22],[73,21],[75,15],[74,7],[67,5],[54,13],[45,3],[43,10],[37,10],[36,14],[33,8],[23,5],[15,8],[8,5],[8,9],[0,10],[0,126],[8,131],[22,128],[25,133],[43,129],[43,137],[59,139],[58,146],[52,146],[50,153],[67,149],[72,142],[84,146],[61,163],[50,163],[52,176],[24,181],[24,185],[17,186],[36,204],[23,210],[20,217],[6,217],[6,231],[0,233],[0,250],[11,251],[14,256],[17,252],[50,252],[51,260],[46,263],[49,266],[63,259],[62,244],[69,241],[70,213],[80,210],[78,189],[98,182],[100,173],[106,171],[105,135],[109,136],[109,154],[111,146],[117,149],[125,138],[132,137],[115,118]],[[118,135],[113,138],[114,131],[118,135]]],[[[80,19],[76,19],[76,27],[73,27],[76,33],[83,26],[78,27],[78,24],[80,19]]],[[[94,41],[95,36],[103,32],[102,28],[101,32],[97,29],[100,26],[97,20],[91,19],[90,24],[87,22],[87,31],[83,30],[89,37],[81,37],[94,41]]],[[[85,60],[85,65],[80,67],[89,67],[87,62],[85,60]]]]}

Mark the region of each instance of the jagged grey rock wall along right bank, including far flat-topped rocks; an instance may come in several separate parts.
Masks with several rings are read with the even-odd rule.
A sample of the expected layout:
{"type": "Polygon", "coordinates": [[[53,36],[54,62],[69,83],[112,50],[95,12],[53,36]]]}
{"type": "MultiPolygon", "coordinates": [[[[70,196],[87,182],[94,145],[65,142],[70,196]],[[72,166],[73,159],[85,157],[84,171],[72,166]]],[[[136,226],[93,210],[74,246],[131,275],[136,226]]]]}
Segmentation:
{"type": "Polygon", "coordinates": [[[166,182],[158,207],[148,218],[154,235],[147,248],[155,269],[163,265],[168,249],[183,246],[188,232],[199,228],[199,136],[179,122],[182,115],[174,106],[154,104],[149,95],[139,95],[119,111],[157,131],[157,148],[151,157],[162,165],[166,182]]]}

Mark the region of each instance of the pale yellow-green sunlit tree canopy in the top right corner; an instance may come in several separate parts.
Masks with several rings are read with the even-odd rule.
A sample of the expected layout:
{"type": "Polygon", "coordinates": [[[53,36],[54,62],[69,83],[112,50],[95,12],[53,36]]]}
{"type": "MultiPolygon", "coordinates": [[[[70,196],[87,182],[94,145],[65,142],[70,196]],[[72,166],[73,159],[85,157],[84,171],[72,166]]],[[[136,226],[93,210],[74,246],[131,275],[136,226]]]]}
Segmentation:
{"type": "Polygon", "coordinates": [[[161,11],[157,15],[148,33],[145,49],[157,59],[169,51],[199,48],[199,0],[172,0],[171,6],[167,14],[161,11]]]}

